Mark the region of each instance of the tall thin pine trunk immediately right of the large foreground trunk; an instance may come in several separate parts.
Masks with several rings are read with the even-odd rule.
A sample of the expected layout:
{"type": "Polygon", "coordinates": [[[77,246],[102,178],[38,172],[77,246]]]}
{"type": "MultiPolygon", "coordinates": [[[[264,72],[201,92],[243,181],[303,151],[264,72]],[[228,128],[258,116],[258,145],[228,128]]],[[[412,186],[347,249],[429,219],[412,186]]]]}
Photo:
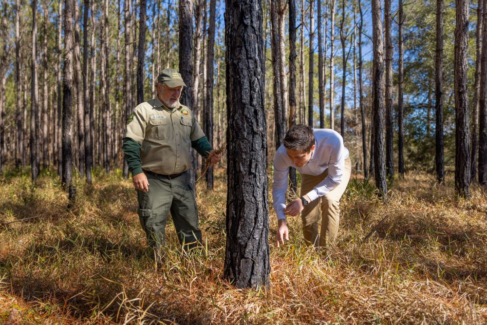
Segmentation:
{"type": "Polygon", "coordinates": [[[271,5],[271,50],[272,50],[272,71],[274,76],[274,123],[276,134],[276,150],[281,146],[284,140],[284,123],[282,123],[283,107],[281,96],[281,76],[280,60],[281,48],[279,46],[279,26],[277,14],[277,1],[270,1],[271,5]]]}

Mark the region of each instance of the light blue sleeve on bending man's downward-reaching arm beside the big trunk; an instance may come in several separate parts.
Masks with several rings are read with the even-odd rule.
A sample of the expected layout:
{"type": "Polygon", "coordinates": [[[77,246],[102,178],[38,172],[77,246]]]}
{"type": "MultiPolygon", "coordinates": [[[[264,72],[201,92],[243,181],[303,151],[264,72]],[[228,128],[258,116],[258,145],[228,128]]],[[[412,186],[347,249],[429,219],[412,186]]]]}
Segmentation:
{"type": "Polygon", "coordinates": [[[284,161],[281,153],[276,152],[274,157],[274,176],[272,182],[272,201],[276,211],[277,219],[285,219],[284,209],[286,208],[287,179],[289,165],[284,161]]]}

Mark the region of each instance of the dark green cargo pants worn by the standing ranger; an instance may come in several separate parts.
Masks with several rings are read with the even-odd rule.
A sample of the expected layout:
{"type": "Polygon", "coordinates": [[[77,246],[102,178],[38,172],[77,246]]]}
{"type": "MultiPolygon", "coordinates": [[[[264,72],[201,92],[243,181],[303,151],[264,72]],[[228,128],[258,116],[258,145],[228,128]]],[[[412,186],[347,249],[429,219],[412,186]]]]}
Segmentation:
{"type": "Polygon", "coordinates": [[[160,256],[161,247],[166,242],[169,212],[183,248],[199,246],[201,230],[198,228],[198,211],[189,172],[172,179],[150,172],[146,175],[149,191],[137,190],[137,199],[140,224],[146,232],[149,246],[160,256]]]}

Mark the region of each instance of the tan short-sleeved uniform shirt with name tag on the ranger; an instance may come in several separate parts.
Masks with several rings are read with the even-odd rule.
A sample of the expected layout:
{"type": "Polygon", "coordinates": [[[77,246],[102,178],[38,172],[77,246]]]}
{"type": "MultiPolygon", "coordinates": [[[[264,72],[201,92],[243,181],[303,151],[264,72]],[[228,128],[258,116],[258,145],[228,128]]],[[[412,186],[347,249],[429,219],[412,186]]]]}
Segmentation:
{"type": "Polygon", "coordinates": [[[135,107],[127,122],[124,137],[140,144],[142,168],[163,175],[190,169],[191,141],[205,136],[189,108],[171,113],[157,97],[135,107]]]}

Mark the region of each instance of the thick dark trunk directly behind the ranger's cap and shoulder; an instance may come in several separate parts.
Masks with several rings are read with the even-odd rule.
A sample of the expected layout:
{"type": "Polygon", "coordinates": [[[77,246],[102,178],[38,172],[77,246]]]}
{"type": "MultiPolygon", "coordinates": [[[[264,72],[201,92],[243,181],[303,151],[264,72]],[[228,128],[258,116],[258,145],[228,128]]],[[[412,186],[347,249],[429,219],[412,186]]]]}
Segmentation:
{"type": "MultiPolygon", "coordinates": [[[[180,102],[193,109],[193,6],[191,0],[179,1],[179,72],[186,83],[180,102]]],[[[194,67],[197,69],[198,67],[194,67]]],[[[194,115],[193,111],[193,115],[194,115]]],[[[196,180],[198,168],[194,150],[191,152],[191,183],[196,180]]]]}

